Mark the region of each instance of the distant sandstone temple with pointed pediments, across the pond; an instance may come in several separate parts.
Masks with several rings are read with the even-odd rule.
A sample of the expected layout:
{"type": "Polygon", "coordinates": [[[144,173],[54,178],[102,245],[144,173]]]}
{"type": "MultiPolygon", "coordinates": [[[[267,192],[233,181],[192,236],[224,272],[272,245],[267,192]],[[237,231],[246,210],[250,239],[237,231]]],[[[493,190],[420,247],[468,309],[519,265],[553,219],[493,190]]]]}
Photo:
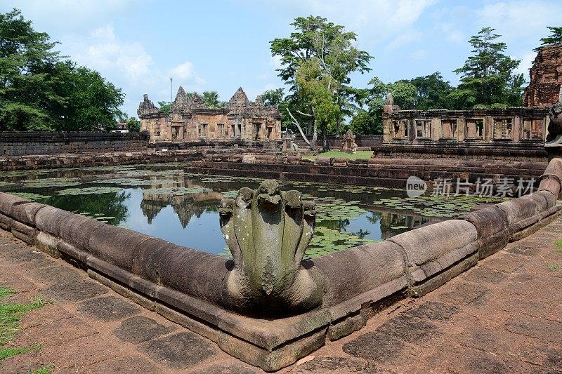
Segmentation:
{"type": "Polygon", "coordinates": [[[189,98],[178,89],[169,114],[160,112],[148,95],[138,105],[141,131],[151,142],[192,140],[280,140],[281,114],[275,105],[264,105],[258,96],[248,100],[242,88],[222,108],[209,108],[197,95],[189,98]]]}

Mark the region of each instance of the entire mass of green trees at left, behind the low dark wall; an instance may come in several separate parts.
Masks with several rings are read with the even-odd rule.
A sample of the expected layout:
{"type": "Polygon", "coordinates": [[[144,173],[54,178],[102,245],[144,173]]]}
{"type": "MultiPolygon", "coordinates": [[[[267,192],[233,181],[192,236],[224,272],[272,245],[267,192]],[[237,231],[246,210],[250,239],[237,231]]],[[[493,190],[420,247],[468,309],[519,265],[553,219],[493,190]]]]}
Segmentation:
{"type": "Polygon", "coordinates": [[[124,94],[54,50],[21,11],[0,13],[0,130],[110,130],[124,94]]]}

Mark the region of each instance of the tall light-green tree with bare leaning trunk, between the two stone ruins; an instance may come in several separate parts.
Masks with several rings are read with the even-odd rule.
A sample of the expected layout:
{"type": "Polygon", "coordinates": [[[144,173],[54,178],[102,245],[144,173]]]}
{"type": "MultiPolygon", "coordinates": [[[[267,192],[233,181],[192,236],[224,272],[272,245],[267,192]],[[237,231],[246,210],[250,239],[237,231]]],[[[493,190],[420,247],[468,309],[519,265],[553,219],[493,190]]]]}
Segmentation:
{"type": "Polygon", "coordinates": [[[280,56],[279,76],[290,86],[287,113],[305,142],[315,149],[318,129],[327,147],[329,123],[341,119],[346,103],[344,90],[351,72],[368,72],[372,56],[353,46],[354,32],[325,18],[299,17],[291,23],[295,32],[288,38],[270,41],[273,56],[280,56]],[[308,122],[308,140],[303,125],[308,122]]]}

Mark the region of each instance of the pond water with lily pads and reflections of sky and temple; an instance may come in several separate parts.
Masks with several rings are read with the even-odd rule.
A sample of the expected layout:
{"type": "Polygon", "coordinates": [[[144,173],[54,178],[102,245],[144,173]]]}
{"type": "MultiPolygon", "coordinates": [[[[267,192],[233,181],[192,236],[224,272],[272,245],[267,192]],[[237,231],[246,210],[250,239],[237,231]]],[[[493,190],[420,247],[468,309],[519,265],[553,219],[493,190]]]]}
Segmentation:
{"type": "MultiPolygon", "coordinates": [[[[183,172],[185,164],[0,172],[0,191],[79,213],[100,222],[188,248],[230,256],[218,203],[261,179],[183,172]]],[[[381,241],[419,225],[455,218],[478,203],[474,196],[410,198],[402,189],[284,182],[317,206],[315,235],[305,258],[381,241]]]]}

